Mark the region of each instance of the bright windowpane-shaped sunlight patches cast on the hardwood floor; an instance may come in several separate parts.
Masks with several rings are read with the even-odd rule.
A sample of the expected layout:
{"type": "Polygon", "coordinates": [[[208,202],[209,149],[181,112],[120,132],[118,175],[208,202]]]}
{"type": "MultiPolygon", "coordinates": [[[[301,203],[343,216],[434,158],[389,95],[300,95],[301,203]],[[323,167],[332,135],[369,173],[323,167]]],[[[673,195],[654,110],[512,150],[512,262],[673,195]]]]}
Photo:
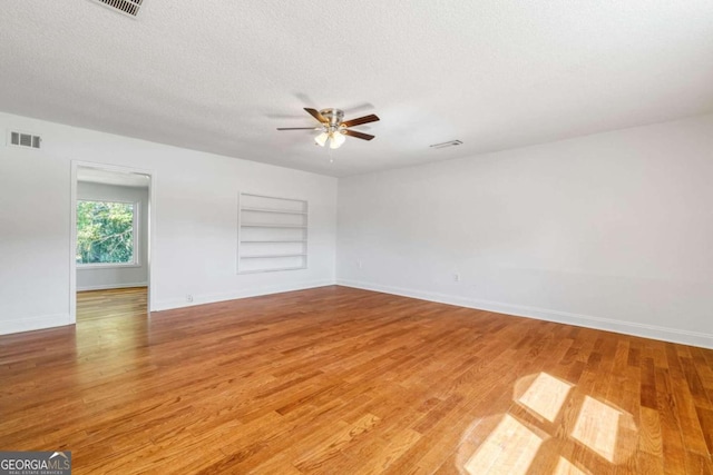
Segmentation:
{"type": "Polygon", "coordinates": [[[594,459],[570,458],[587,453],[602,457],[612,468],[625,463],[638,443],[634,417],[576,387],[547,373],[518,379],[515,405],[505,415],[477,419],[462,434],[455,461],[458,472],[511,475],[545,469],[557,475],[592,475],[594,459]],[[555,443],[543,445],[547,441],[555,443]],[[564,449],[567,452],[560,452],[564,449]]]}

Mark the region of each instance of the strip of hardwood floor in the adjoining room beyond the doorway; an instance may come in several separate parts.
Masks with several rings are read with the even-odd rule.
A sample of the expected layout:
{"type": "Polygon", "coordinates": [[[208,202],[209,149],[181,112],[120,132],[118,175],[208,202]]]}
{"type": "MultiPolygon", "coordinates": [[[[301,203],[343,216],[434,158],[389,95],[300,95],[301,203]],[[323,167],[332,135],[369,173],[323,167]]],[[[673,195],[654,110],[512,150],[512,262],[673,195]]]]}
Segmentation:
{"type": "Polygon", "coordinates": [[[130,316],[146,318],[147,308],[146,287],[77,293],[77,321],[130,316]]]}

